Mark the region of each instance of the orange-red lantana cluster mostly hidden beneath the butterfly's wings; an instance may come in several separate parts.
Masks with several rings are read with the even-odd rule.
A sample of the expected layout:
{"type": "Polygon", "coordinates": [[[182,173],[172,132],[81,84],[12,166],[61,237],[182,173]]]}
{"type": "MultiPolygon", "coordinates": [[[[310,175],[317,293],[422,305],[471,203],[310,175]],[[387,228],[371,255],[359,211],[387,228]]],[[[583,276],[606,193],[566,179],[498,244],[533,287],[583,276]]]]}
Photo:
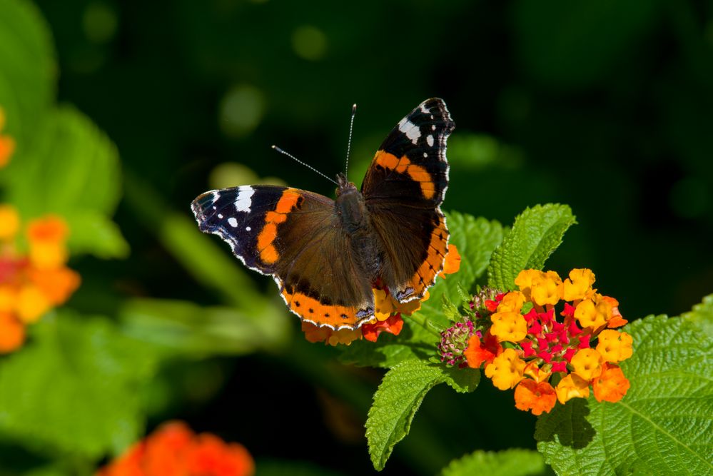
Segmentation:
{"type": "MultiPolygon", "coordinates": [[[[448,245],[448,252],[445,256],[443,271],[440,278],[445,279],[445,275],[456,273],[460,269],[460,253],[455,245],[448,245]]],[[[374,293],[374,318],[368,323],[364,323],[358,329],[333,330],[328,327],[318,327],[317,325],[304,322],[302,331],[305,338],[312,343],[324,342],[329,345],[345,344],[350,345],[355,340],[366,339],[376,342],[383,332],[399,335],[403,328],[402,315],[411,315],[421,308],[421,303],[428,299],[428,291],[420,300],[413,300],[408,303],[399,303],[390,294],[388,287],[377,283],[373,288],[374,293]]]]}

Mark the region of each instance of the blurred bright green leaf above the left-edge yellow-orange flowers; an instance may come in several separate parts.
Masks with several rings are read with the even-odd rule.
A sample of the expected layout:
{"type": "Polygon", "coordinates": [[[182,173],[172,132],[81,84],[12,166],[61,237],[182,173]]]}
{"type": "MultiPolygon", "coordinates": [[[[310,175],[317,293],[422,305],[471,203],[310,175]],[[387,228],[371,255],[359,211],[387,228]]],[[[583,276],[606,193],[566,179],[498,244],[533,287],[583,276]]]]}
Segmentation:
{"type": "Polygon", "coordinates": [[[33,146],[12,165],[7,193],[22,216],[64,217],[74,253],[126,255],[128,244],[106,218],[121,194],[118,153],[89,118],[69,106],[49,112],[33,146]]]}

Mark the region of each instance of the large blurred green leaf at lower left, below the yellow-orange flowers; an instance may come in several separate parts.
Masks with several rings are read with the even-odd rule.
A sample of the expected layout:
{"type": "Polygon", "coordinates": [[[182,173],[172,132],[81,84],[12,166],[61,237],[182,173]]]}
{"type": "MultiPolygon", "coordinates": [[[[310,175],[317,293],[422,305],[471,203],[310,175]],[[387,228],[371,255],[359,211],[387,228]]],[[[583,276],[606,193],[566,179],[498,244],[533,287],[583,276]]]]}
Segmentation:
{"type": "Polygon", "coordinates": [[[31,329],[26,347],[0,360],[0,432],[38,453],[91,459],[136,441],[151,348],[66,310],[31,329]]]}

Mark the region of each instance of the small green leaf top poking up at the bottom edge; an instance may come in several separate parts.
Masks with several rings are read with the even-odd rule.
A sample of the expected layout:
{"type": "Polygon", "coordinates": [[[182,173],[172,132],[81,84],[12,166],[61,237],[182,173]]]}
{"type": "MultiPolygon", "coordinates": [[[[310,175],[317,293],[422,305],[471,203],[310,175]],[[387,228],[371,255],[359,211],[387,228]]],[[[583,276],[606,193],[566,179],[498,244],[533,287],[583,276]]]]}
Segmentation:
{"type": "Polygon", "coordinates": [[[547,474],[545,460],[532,450],[476,451],[453,460],[441,476],[540,476],[547,474]]]}

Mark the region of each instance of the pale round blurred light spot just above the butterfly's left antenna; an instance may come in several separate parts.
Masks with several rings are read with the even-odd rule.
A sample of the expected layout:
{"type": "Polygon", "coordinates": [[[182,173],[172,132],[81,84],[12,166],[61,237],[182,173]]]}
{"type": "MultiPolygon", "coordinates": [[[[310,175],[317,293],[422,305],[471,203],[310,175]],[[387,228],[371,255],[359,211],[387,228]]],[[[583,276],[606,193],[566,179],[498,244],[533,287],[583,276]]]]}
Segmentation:
{"type": "Polygon", "coordinates": [[[242,137],[251,133],[265,113],[265,98],[254,86],[231,88],[221,99],[218,121],[228,137],[242,137]]]}

